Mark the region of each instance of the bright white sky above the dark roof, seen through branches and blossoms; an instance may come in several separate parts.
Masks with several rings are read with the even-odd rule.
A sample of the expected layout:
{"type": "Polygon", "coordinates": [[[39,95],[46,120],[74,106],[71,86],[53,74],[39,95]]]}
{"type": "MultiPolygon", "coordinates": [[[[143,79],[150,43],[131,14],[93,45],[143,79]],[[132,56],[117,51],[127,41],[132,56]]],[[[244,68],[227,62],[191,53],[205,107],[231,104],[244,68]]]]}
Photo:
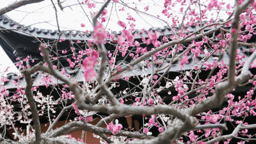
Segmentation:
{"type": "MultiPolygon", "coordinates": [[[[16,0],[1,0],[0,8],[6,7],[10,3],[14,2],[16,0]]],[[[57,0],[53,0],[54,2],[57,2],[57,0]]],[[[87,5],[83,5],[83,8],[85,10],[85,13],[81,9],[81,6],[78,4],[77,0],[61,0],[65,1],[62,3],[62,6],[68,6],[73,5],[71,7],[64,8],[64,12],[62,12],[57,4],[55,4],[57,10],[58,10],[58,20],[61,27],[61,30],[79,30],[79,31],[85,31],[85,30],[92,30],[92,25],[90,24],[88,18],[86,17],[85,13],[88,14],[88,17],[90,17],[90,12],[88,11],[87,5]],[[81,23],[84,23],[86,26],[81,27],[81,23]]],[[[85,1],[85,0],[79,0],[79,1],[85,1]]],[[[103,2],[104,0],[90,0],[91,3],[94,1],[103,2]]],[[[167,19],[161,12],[163,10],[163,3],[164,0],[141,0],[139,2],[138,0],[124,0],[125,2],[128,1],[129,6],[131,7],[137,7],[140,11],[145,12],[144,8],[148,5],[149,10],[147,13],[150,13],[154,16],[159,15],[160,18],[165,19],[168,21],[171,25],[171,18],[167,19]],[[134,2],[134,4],[133,4],[134,2]],[[160,3],[158,5],[158,3],[160,3]]],[[[208,0],[203,0],[204,4],[208,4],[208,0]]],[[[100,8],[100,6],[103,3],[96,4],[98,7],[93,8],[93,12],[97,12],[100,8]]],[[[183,6],[183,9],[185,11],[187,6],[183,6]]],[[[191,6],[193,8],[193,6],[191,6]]],[[[225,6],[224,6],[225,7],[225,6]]],[[[135,29],[143,29],[143,28],[151,28],[151,27],[164,27],[166,24],[163,24],[163,22],[159,22],[158,20],[155,20],[151,17],[145,16],[145,15],[138,15],[132,10],[124,9],[123,12],[118,11],[119,9],[122,9],[123,6],[120,4],[113,4],[110,3],[107,10],[107,16],[110,18],[110,21],[107,25],[107,22],[103,23],[103,25],[106,26],[106,29],[114,30],[114,31],[120,31],[122,30],[122,27],[117,25],[117,22],[121,20],[122,22],[125,22],[128,25],[128,21],[126,20],[126,17],[129,15],[132,15],[136,22],[133,22],[135,24],[135,29]],[[111,12],[111,9],[113,10],[111,12]],[[117,9],[117,11],[115,10],[117,9]],[[111,13],[111,16],[110,16],[111,13]]],[[[195,8],[195,7],[194,7],[195,8]]],[[[201,8],[203,9],[203,8],[201,8]]],[[[177,15],[180,19],[182,18],[182,13],[179,12],[180,7],[177,5],[177,8],[174,10],[172,9],[170,13],[172,12],[172,15],[177,15]]],[[[195,11],[199,12],[198,8],[195,8],[195,11]]],[[[45,0],[40,3],[35,4],[29,4],[23,7],[20,7],[16,10],[13,10],[11,12],[6,13],[8,17],[10,17],[12,20],[16,21],[17,23],[24,24],[24,25],[32,25],[32,27],[42,28],[42,29],[52,29],[57,30],[57,24],[56,24],[56,16],[55,11],[53,9],[53,6],[51,4],[50,0],[45,0]]],[[[216,12],[212,11],[209,12],[210,15],[214,16],[216,18],[216,12]],[[213,15],[212,15],[213,14],[213,15]]],[[[227,15],[225,12],[222,12],[222,15],[218,15],[219,17],[225,19],[227,15]],[[224,14],[223,14],[224,13],[224,14]],[[224,16],[224,17],[223,17],[224,16]]],[[[181,23],[181,20],[180,20],[181,23]]],[[[130,28],[127,26],[127,28],[130,28]]],[[[0,48],[1,49],[1,48],[0,48]]],[[[0,71],[3,71],[6,69],[7,66],[12,65],[12,63],[7,61],[8,58],[4,55],[4,52],[0,51],[0,63],[2,64],[0,66],[0,71]]],[[[12,69],[10,71],[17,71],[12,66],[12,69]]]]}

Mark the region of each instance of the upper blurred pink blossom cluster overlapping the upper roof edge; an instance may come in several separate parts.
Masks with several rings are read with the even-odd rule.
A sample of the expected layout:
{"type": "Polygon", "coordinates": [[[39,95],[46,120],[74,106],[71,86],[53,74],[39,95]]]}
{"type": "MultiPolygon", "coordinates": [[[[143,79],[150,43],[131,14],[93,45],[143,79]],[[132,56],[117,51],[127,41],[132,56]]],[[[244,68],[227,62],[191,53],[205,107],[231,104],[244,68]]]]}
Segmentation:
{"type": "Polygon", "coordinates": [[[107,34],[105,32],[105,28],[103,27],[103,24],[98,22],[97,25],[94,27],[94,34],[93,34],[94,43],[101,44],[104,42],[106,37],[107,37],[107,34]]]}

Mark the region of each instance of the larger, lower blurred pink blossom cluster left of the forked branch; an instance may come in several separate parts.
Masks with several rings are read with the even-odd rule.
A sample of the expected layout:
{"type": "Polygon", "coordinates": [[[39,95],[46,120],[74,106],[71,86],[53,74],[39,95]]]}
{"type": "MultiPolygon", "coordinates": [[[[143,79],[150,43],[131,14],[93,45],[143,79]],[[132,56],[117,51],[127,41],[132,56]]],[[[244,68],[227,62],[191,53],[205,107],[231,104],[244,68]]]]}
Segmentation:
{"type": "Polygon", "coordinates": [[[94,71],[97,59],[98,53],[95,50],[93,50],[92,55],[90,57],[86,57],[83,61],[85,69],[84,77],[87,82],[91,81],[92,78],[94,78],[97,75],[97,73],[94,71]]]}

